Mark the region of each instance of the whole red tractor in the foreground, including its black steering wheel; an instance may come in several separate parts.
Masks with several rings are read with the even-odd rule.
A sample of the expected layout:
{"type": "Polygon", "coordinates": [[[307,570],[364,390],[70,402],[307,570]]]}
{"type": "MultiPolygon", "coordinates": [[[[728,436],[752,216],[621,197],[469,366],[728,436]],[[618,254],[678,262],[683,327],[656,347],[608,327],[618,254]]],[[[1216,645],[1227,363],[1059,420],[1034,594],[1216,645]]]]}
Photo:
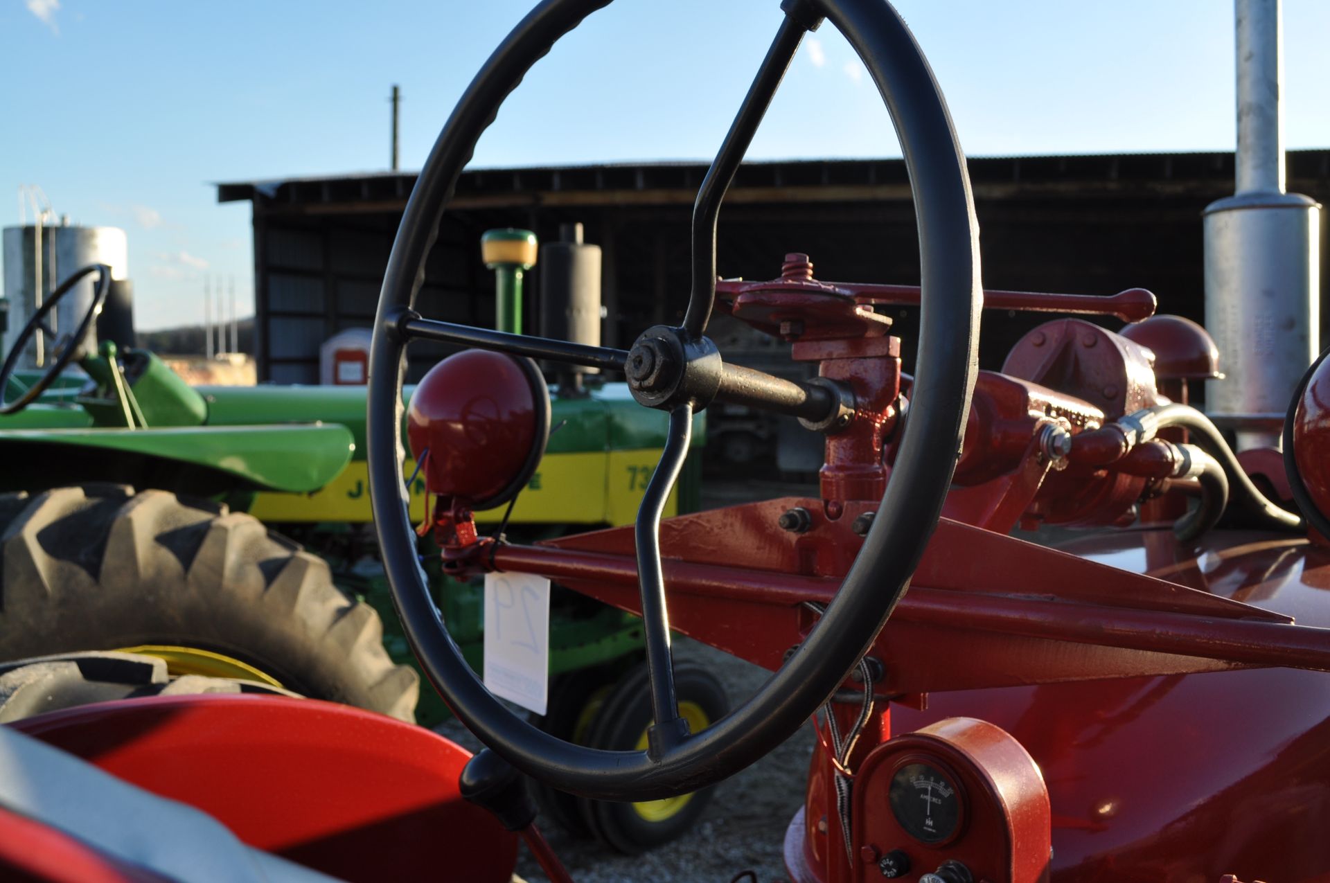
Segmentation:
{"type": "Polygon", "coordinates": [[[1270,452],[1240,461],[1185,403],[1185,378],[1213,374],[1213,347],[1194,326],[1149,318],[1153,295],[983,291],[964,154],[884,4],[782,4],[698,194],[680,327],[648,328],[625,351],[414,311],[473,144],[528,68],[600,5],[540,5],[460,100],[398,233],[370,359],[370,479],[395,604],[431,682],[488,750],[468,759],[408,725],[285,697],[160,695],[31,717],[0,727],[0,863],[40,879],[203,879],[197,868],[233,860],[229,879],[306,879],[294,862],[351,879],[503,880],[516,831],[551,879],[567,879],[532,824],[528,778],[598,801],[673,798],[811,717],[803,809],[773,819],[799,883],[1330,879],[1330,368],[1313,366],[1294,396],[1285,468],[1270,452]],[[716,281],[726,186],[823,17],[899,132],[920,289],[819,282],[798,254],[778,279],[716,281]],[[903,302],[922,306],[912,376],[875,309],[903,302]],[[988,372],[976,359],[984,306],[1132,324],[1053,319],[988,372]],[[790,342],[819,376],[726,364],[704,334],[713,311],[790,342]],[[420,527],[452,572],[541,574],[642,616],[654,723],[637,750],[532,726],[442,628],[400,480],[403,352],[418,338],[475,347],[439,363],[411,402],[435,500],[420,527]],[[472,503],[520,488],[549,431],[535,358],[621,371],[638,403],[669,412],[634,528],[535,547],[477,535],[472,503]],[[825,434],[819,495],[661,521],[690,418],[713,402],[825,434]],[[1302,515],[1271,496],[1295,497],[1302,515]],[[1011,536],[1017,525],[1100,529],[1053,549],[1011,536]],[[693,733],[672,630],[773,674],[693,733]],[[234,838],[69,754],[209,813],[234,838]]]}

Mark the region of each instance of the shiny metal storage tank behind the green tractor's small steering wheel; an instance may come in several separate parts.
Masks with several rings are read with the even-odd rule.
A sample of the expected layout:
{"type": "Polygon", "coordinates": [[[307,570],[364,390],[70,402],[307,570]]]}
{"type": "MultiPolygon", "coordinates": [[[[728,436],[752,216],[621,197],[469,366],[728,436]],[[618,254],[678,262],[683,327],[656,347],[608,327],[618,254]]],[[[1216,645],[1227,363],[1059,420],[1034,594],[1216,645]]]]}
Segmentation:
{"type": "MultiPolygon", "coordinates": [[[[32,314],[61,279],[89,263],[110,266],[113,279],[129,277],[129,241],[120,227],[21,226],[4,230],[4,295],[9,301],[9,328],[4,335],[4,351],[9,352],[19,332],[32,314]],[[40,293],[40,297],[39,297],[40,293]]],[[[55,330],[77,327],[78,319],[92,303],[96,275],[85,277],[61,299],[56,309],[55,330]]],[[[29,347],[19,362],[21,370],[43,367],[49,358],[51,342],[45,352],[29,347]]]]}

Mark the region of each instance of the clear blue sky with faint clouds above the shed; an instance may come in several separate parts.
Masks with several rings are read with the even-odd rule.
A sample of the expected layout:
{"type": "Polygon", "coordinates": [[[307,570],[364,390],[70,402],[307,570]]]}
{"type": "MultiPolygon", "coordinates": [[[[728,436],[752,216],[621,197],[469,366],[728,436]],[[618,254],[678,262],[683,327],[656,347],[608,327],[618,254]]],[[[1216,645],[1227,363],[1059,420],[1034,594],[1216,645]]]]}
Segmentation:
{"type": "MultiPolygon", "coordinates": [[[[202,318],[203,274],[251,303],[247,203],[214,182],[383,170],[391,84],[416,169],[528,3],[0,0],[0,225],[20,185],[129,234],[138,326],[202,318]]],[[[702,160],[778,0],[620,0],[543,60],[477,166],[702,160]]],[[[1226,0],[900,0],[974,156],[1232,149],[1226,0]]],[[[1330,146],[1330,3],[1285,0],[1287,146],[1330,146]]],[[[898,156],[849,45],[805,43],[750,158],[898,156]]],[[[725,215],[722,213],[721,222],[725,215]]]]}

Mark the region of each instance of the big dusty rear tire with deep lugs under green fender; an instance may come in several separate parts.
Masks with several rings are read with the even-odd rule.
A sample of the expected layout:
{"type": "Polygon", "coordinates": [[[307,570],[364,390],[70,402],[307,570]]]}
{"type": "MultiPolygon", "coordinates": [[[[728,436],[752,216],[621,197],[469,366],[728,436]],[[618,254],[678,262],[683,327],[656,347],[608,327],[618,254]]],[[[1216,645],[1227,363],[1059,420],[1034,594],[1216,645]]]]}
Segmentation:
{"type": "Polygon", "coordinates": [[[112,484],[0,495],[0,660],[145,646],[414,719],[379,616],[257,519],[112,484]]]}

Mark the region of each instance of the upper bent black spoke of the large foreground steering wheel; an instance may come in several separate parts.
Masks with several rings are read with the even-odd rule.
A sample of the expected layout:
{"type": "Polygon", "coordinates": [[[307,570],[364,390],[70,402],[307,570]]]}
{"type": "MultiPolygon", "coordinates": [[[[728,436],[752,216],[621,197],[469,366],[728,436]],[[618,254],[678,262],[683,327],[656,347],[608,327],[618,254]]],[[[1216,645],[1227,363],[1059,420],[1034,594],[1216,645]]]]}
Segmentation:
{"type": "Polygon", "coordinates": [[[684,328],[694,338],[702,336],[706,330],[712,305],[716,302],[716,223],[721,215],[721,201],[734,181],[734,173],[738,172],[790,61],[794,60],[805,31],[815,29],[821,23],[805,12],[802,0],[791,0],[783,5],[787,7],[785,20],[781,21],[693,203],[693,289],[688,298],[684,328]]]}

